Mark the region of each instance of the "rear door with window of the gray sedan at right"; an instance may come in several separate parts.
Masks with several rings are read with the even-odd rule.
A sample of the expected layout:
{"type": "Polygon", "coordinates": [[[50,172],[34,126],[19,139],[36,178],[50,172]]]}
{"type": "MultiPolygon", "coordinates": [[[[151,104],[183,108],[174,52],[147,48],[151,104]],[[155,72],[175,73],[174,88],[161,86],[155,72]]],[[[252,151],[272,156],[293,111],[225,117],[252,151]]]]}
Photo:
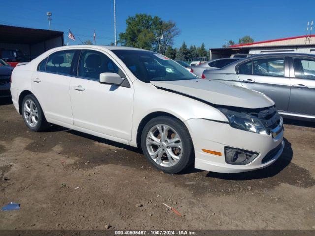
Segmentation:
{"type": "Polygon", "coordinates": [[[238,76],[245,88],[264,93],[278,110],[287,111],[290,98],[288,60],[285,57],[264,57],[238,66],[238,76]]]}

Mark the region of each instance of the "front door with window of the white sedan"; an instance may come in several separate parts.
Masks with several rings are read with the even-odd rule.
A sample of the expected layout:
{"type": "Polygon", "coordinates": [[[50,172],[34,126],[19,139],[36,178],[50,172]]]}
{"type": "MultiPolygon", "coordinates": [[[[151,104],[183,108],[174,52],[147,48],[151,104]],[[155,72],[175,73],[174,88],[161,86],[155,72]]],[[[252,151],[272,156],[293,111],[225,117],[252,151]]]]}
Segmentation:
{"type": "Polygon", "coordinates": [[[124,86],[99,83],[99,74],[103,72],[124,76],[104,53],[82,50],[78,77],[74,77],[70,85],[74,125],[131,140],[133,88],[129,83],[124,86]]]}

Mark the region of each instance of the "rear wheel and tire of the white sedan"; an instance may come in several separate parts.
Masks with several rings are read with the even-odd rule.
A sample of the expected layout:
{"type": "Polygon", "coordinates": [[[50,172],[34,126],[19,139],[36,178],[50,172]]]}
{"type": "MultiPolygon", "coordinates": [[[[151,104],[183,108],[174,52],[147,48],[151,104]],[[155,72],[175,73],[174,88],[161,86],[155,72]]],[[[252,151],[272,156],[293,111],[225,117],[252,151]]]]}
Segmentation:
{"type": "Polygon", "coordinates": [[[43,110],[33,94],[26,95],[22,101],[22,117],[26,126],[38,132],[49,127],[43,110]]]}

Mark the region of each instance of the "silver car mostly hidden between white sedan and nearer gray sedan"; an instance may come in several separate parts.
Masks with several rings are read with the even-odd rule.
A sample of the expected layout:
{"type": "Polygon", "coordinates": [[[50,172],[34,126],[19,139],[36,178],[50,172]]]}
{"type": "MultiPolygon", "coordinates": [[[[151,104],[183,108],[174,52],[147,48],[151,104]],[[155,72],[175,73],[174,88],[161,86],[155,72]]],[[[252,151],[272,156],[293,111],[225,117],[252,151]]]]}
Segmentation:
{"type": "Polygon", "coordinates": [[[231,64],[241,58],[219,58],[219,59],[213,59],[209,60],[201,65],[192,66],[192,73],[194,73],[196,76],[202,77],[202,73],[204,70],[211,70],[211,69],[218,69],[222,68],[228,64],[231,64]]]}

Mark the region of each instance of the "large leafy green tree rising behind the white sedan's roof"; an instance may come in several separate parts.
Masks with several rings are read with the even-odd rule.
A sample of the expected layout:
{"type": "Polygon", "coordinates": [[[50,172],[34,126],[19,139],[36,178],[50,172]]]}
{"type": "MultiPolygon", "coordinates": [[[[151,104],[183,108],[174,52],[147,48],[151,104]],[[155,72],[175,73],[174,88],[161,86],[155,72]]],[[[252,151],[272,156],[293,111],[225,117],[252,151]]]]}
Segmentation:
{"type": "Polygon", "coordinates": [[[123,46],[143,48],[165,54],[167,46],[173,45],[174,37],[180,31],[171,21],[147,14],[136,14],[126,19],[127,28],[119,34],[123,46]]]}

